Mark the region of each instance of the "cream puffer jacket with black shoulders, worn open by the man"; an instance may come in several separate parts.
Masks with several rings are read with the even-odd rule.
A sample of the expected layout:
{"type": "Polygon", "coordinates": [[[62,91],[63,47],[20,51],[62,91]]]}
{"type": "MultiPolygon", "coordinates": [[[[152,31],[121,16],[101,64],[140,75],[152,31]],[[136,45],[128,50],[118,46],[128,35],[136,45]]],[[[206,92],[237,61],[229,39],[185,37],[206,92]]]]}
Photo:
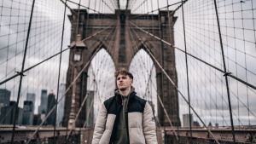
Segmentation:
{"type": "MultiPolygon", "coordinates": [[[[96,118],[92,144],[112,143],[122,107],[121,95],[118,93],[103,102],[96,118]]],[[[129,143],[156,144],[154,115],[148,101],[143,100],[133,91],[128,99],[126,111],[125,123],[129,143]]]]}

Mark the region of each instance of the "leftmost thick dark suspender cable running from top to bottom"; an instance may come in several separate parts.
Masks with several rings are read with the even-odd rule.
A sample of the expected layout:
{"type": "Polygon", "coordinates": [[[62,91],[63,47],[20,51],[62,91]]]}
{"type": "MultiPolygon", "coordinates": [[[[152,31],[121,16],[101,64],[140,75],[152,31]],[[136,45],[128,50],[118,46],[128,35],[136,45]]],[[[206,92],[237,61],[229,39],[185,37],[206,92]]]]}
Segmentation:
{"type": "Polygon", "coordinates": [[[22,67],[21,67],[21,72],[20,72],[20,85],[19,85],[19,91],[18,91],[18,97],[17,97],[17,104],[15,106],[15,118],[13,120],[14,125],[13,125],[11,144],[14,143],[14,137],[15,137],[15,124],[17,121],[17,111],[18,111],[18,106],[19,106],[19,101],[20,101],[20,89],[21,89],[21,84],[22,84],[22,78],[24,76],[23,71],[24,71],[24,65],[25,65],[25,60],[26,60],[26,49],[27,49],[29,33],[31,30],[31,25],[32,25],[32,15],[33,15],[33,10],[34,10],[34,5],[35,5],[35,0],[33,0],[33,2],[32,2],[32,10],[31,10],[31,14],[30,14],[30,20],[29,20],[29,25],[28,25],[27,35],[26,35],[26,45],[25,45],[25,49],[24,49],[22,67]]]}

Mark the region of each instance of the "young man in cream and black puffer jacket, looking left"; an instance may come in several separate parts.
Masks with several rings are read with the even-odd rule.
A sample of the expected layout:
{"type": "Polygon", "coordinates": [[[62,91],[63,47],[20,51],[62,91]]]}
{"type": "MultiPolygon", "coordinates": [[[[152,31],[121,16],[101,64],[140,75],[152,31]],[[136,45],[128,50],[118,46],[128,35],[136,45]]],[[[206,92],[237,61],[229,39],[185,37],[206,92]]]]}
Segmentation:
{"type": "Polygon", "coordinates": [[[118,89],[104,101],[96,118],[92,144],[157,143],[152,108],[136,95],[131,72],[115,72],[118,89]]]}

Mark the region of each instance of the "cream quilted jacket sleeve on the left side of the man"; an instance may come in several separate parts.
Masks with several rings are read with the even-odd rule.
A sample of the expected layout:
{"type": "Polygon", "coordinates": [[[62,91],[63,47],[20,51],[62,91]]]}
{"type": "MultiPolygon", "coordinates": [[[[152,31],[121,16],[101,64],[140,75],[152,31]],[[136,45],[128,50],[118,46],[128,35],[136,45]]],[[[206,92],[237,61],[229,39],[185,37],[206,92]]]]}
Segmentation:
{"type": "Polygon", "coordinates": [[[92,138],[92,144],[98,144],[99,141],[102,138],[102,135],[106,129],[106,121],[107,121],[107,109],[102,104],[102,108],[98,112],[97,118],[96,118],[96,124],[93,132],[93,138],[92,138]]]}

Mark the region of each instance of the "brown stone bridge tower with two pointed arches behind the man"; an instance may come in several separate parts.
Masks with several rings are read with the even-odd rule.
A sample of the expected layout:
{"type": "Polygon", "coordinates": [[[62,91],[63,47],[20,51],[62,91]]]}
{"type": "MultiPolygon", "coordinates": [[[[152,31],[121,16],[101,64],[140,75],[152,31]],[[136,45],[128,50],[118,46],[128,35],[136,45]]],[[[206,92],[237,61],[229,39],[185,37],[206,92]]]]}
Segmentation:
{"type": "MultiPolygon", "coordinates": [[[[172,11],[169,11],[171,13],[172,11]]],[[[131,14],[131,10],[115,10],[115,14],[88,14],[85,9],[74,9],[73,14],[69,15],[72,22],[72,37],[69,56],[69,66],[67,70],[67,85],[73,82],[78,72],[90,60],[90,57],[96,53],[96,49],[102,44],[102,49],[106,49],[112,57],[115,68],[128,69],[134,55],[139,49],[145,49],[145,46],[138,40],[140,37],[145,45],[153,53],[167,74],[177,84],[177,73],[175,67],[174,49],[165,43],[147,35],[139,30],[139,26],[146,31],[153,33],[167,42],[174,43],[173,25],[176,17],[172,15],[168,19],[168,11],[160,11],[160,14],[131,14]],[[78,15],[79,14],[79,15],[78,15]],[[79,20],[78,20],[79,19],[79,20]],[[130,28],[134,28],[137,36],[130,28]],[[104,31],[102,31],[104,30],[104,31]],[[154,31],[152,31],[154,30],[154,31]],[[102,31],[102,32],[101,32],[102,31]],[[100,34],[90,37],[96,32],[100,34]],[[113,38],[107,37],[113,32],[113,38]],[[131,38],[132,37],[134,38],[131,38]],[[84,38],[90,37],[89,39],[84,38]],[[134,48],[134,44],[138,45],[138,49],[134,48]],[[108,47],[111,45],[111,48],[108,47]]],[[[156,66],[156,65],[155,65],[156,66]]],[[[72,89],[69,89],[65,98],[63,126],[73,123],[75,114],[79,111],[87,88],[87,72],[85,68],[81,76],[78,78],[72,89]]],[[[164,107],[172,120],[173,125],[180,125],[179,108],[177,91],[168,81],[161,69],[156,66],[157,89],[160,99],[164,103],[164,107]]],[[[87,110],[85,106],[80,112],[79,119],[76,121],[76,127],[82,127],[86,117],[87,110]]],[[[166,114],[158,101],[158,118],[161,126],[170,126],[166,114]]]]}

